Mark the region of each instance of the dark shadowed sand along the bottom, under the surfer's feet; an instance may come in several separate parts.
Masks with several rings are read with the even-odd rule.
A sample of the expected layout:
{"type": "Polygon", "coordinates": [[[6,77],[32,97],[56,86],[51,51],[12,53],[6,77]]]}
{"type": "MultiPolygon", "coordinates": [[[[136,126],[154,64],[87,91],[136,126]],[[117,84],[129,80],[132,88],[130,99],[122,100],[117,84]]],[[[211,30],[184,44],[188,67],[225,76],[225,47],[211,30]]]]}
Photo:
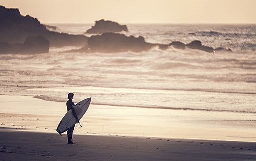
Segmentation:
{"type": "Polygon", "coordinates": [[[255,142],[0,130],[1,161],[255,161],[255,142]]]}

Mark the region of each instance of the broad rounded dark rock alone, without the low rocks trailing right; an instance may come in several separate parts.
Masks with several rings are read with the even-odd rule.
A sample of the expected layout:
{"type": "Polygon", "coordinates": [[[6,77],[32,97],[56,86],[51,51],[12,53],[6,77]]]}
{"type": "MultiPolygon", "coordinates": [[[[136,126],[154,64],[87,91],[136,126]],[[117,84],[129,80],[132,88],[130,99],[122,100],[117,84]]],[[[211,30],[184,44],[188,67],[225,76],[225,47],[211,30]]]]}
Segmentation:
{"type": "Polygon", "coordinates": [[[120,33],[105,32],[88,38],[88,47],[91,52],[117,53],[148,51],[155,44],[146,43],[142,36],[125,36],[120,33]]]}

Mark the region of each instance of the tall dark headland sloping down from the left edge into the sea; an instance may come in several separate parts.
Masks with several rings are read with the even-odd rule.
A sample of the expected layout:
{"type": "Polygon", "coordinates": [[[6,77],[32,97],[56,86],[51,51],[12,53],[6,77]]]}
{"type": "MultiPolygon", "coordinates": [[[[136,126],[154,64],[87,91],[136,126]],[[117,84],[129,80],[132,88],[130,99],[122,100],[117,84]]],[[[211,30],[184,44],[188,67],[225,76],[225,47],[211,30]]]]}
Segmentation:
{"type": "Polygon", "coordinates": [[[36,18],[22,16],[17,8],[0,6],[0,42],[24,43],[29,36],[42,36],[50,41],[50,46],[85,46],[85,35],[71,35],[49,31],[36,18]]]}

